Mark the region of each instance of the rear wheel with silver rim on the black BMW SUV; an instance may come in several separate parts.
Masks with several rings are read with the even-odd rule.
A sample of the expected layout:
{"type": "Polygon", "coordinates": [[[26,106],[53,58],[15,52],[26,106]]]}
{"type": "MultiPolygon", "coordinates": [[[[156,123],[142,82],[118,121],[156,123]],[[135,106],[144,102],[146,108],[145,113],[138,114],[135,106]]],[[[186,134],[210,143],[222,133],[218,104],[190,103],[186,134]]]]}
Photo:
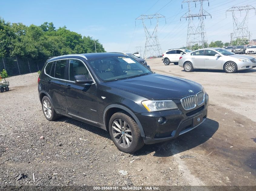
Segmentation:
{"type": "Polygon", "coordinates": [[[58,119],[59,115],[56,113],[52,106],[52,102],[50,101],[49,97],[44,96],[42,99],[42,110],[44,113],[45,118],[48,121],[55,121],[58,119]]]}

